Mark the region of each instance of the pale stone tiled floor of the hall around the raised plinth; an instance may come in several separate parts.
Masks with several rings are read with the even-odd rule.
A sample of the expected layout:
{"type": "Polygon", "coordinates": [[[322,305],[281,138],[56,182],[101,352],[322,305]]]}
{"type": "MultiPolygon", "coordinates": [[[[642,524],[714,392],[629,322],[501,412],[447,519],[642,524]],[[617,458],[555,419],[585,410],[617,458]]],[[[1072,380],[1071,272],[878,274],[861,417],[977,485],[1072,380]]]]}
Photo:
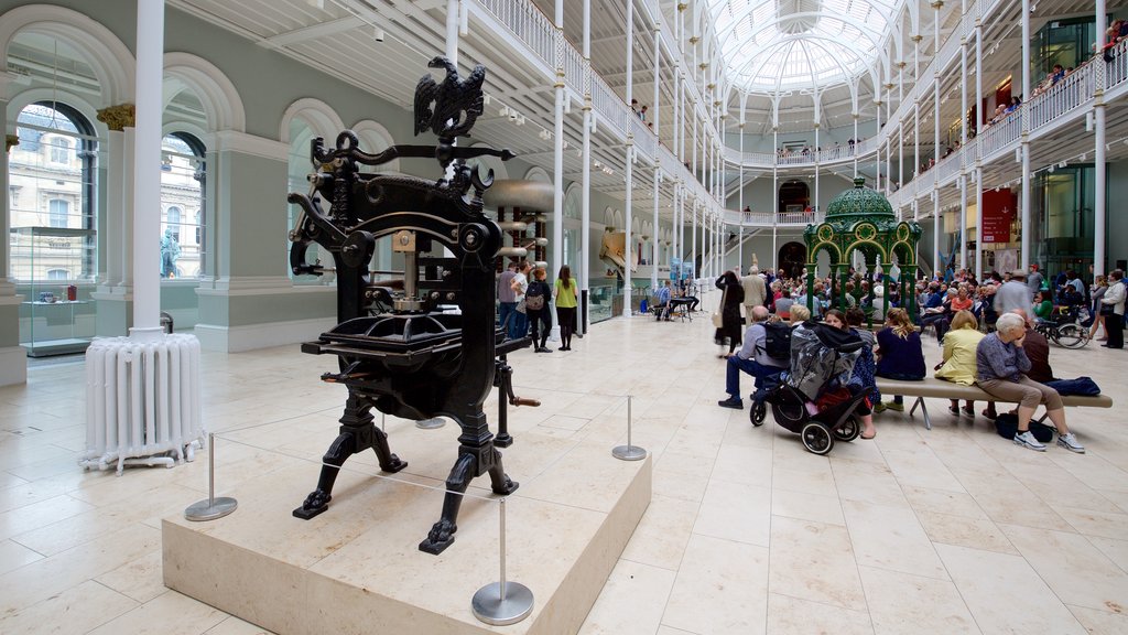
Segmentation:
{"type": "MultiPolygon", "coordinates": [[[[511,356],[518,392],[545,402],[511,411],[518,442],[536,427],[610,449],[622,438],[584,420],[631,393],[635,441],[656,459],[651,506],[582,633],[1128,633],[1123,405],[1069,410],[1085,455],[1020,449],[932,401],[931,432],[887,412],[875,441],[820,458],[716,406],[707,319],[619,319],[573,347],[511,356]]],[[[1128,353],[1051,362],[1122,401],[1128,353]]],[[[324,451],[342,394],[317,381],[329,363],[296,346],[205,355],[221,489],[324,451]],[[252,425],[264,434],[222,434],[252,425]]],[[[81,360],[0,389],[0,633],[258,633],[161,585],[159,519],[205,495],[206,462],[83,472],[83,391],[81,360]]]]}

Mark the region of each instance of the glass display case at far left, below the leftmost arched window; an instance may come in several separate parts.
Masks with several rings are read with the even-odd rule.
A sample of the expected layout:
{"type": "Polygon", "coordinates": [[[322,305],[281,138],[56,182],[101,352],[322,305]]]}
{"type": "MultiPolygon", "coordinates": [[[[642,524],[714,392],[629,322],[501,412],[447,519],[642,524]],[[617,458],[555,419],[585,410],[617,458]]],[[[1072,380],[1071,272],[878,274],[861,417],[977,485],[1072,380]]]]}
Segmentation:
{"type": "Polygon", "coordinates": [[[15,227],[10,245],[11,275],[24,296],[19,340],[27,355],[86,350],[96,330],[88,284],[96,262],[95,230],[15,227]]]}

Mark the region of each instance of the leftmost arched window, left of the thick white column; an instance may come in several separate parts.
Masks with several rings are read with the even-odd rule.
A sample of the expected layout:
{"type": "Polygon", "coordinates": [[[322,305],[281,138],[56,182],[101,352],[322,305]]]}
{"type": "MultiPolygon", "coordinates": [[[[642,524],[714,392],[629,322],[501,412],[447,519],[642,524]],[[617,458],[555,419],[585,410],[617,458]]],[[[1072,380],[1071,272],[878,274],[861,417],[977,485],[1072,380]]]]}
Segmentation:
{"type": "Polygon", "coordinates": [[[26,244],[14,244],[12,277],[43,279],[52,270],[64,270],[34,256],[51,253],[52,258],[63,258],[65,244],[71,251],[67,256],[68,277],[94,279],[98,201],[98,139],[94,125],[69,104],[36,102],[24,106],[17,115],[16,134],[19,145],[8,158],[8,185],[12,192],[9,226],[14,230],[36,229],[20,233],[29,236],[26,244]],[[39,228],[65,228],[67,240],[39,228]]]}

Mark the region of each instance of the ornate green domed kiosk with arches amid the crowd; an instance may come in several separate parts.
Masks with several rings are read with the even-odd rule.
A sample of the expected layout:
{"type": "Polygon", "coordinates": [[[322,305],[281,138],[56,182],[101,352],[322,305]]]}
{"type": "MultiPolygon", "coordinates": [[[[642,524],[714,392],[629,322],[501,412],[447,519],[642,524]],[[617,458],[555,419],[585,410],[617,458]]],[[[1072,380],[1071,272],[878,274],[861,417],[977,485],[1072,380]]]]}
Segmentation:
{"type": "MultiPolygon", "coordinates": [[[[920,241],[920,226],[914,220],[897,220],[892,206],[885,197],[872,188],[865,186],[865,179],[854,179],[854,189],[835,197],[827,206],[827,218],[818,225],[808,225],[803,232],[807,243],[807,302],[812,308],[814,302],[814,269],[819,252],[826,250],[830,256],[830,276],[841,281],[846,288],[849,278],[851,255],[861,250],[865,256],[866,269],[873,271],[878,259],[884,267],[895,261],[901,269],[896,281],[898,295],[907,302],[905,308],[909,315],[916,314],[916,295],[913,282],[917,271],[917,243],[920,241]]],[[[893,280],[887,273],[885,311],[889,311],[889,290],[893,280]]],[[[846,308],[845,290],[836,298],[843,310],[846,308]]]]}

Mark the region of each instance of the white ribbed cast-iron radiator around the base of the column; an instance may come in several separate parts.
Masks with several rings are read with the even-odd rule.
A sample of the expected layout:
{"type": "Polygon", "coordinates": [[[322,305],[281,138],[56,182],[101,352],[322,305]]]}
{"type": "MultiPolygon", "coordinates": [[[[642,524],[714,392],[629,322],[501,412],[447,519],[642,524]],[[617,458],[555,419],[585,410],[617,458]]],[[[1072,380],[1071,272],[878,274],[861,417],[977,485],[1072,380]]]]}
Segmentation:
{"type": "Polygon", "coordinates": [[[83,468],[173,467],[204,443],[200,340],[98,338],[86,349],[83,468]]]}

